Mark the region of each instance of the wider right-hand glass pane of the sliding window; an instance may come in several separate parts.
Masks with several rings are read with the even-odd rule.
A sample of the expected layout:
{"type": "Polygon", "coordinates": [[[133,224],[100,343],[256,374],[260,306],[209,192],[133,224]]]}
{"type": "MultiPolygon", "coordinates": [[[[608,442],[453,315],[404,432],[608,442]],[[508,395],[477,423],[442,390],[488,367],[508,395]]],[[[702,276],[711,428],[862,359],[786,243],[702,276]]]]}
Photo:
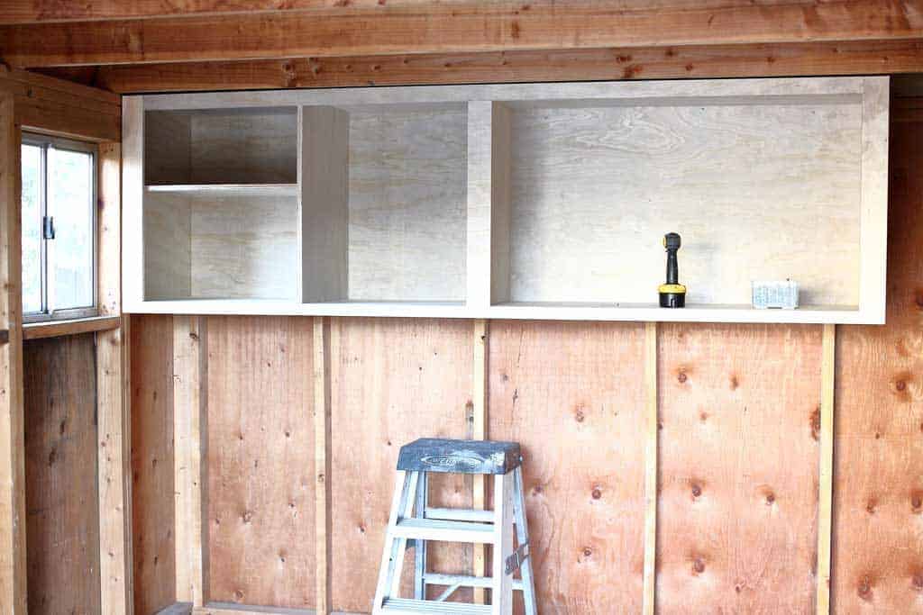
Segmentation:
{"type": "Polygon", "coordinates": [[[49,245],[54,310],[93,305],[93,156],[48,150],[48,215],[54,218],[49,245]]]}

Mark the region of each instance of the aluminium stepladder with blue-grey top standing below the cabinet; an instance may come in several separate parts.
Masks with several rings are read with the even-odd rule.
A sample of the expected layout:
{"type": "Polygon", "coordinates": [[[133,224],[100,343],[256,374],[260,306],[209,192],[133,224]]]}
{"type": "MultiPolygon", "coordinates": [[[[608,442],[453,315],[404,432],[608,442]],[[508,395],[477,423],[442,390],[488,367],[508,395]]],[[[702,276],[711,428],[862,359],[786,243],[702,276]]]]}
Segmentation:
{"type": "Polygon", "coordinates": [[[509,615],[514,589],[522,591],[526,615],[536,615],[519,444],[423,438],[402,446],[372,615],[509,615]],[[493,475],[494,510],[431,508],[426,497],[429,472],[493,475]],[[427,571],[427,540],[492,545],[493,575],[480,577],[427,571]],[[413,599],[400,597],[404,551],[410,547],[414,547],[415,554],[413,599]],[[521,580],[513,579],[517,570],[521,580]],[[427,600],[426,585],[447,589],[435,600],[427,600]],[[489,588],[491,604],[445,601],[462,586],[489,588]]]}

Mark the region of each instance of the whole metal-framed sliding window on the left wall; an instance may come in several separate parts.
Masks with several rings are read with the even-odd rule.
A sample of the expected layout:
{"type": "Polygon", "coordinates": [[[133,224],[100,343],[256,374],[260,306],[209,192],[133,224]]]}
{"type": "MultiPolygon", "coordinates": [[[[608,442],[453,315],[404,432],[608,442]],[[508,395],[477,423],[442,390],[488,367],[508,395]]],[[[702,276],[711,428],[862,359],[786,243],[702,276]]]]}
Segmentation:
{"type": "Polygon", "coordinates": [[[96,146],[22,137],[26,322],[96,315],[96,146]]]}

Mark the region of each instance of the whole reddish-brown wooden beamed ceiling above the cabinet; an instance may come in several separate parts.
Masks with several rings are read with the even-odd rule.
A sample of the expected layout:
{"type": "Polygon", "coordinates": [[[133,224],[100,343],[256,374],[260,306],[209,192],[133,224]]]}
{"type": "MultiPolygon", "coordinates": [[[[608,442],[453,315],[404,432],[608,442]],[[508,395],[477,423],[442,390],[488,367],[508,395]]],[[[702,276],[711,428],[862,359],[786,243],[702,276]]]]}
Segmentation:
{"type": "Polygon", "coordinates": [[[923,0],[0,0],[0,58],[116,92],[923,72],[923,0]]]}

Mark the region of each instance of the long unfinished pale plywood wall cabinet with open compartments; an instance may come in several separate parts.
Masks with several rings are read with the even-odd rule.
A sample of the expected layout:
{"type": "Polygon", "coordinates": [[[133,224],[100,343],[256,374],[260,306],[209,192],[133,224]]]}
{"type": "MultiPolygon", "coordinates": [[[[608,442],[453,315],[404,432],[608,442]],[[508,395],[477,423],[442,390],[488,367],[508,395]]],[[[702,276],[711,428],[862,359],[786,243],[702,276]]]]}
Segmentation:
{"type": "Polygon", "coordinates": [[[125,105],[131,312],[884,319],[887,77],[125,105]],[[667,231],[683,310],[655,307],[667,231]],[[749,308],[785,278],[798,310],[749,308]]]}

